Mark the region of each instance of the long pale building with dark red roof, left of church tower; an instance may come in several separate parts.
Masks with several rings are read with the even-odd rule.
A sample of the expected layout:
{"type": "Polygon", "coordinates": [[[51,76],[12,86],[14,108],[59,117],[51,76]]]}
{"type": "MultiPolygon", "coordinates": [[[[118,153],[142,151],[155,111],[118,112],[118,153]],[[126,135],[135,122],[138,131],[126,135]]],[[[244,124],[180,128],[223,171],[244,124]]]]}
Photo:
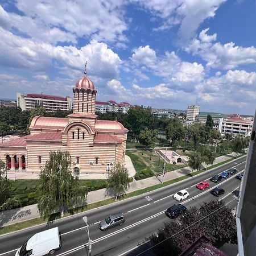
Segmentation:
{"type": "Polygon", "coordinates": [[[48,112],[55,112],[56,110],[69,111],[72,109],[72,102],[70,97],[52,96],[46,94],[24,94],[16,93],[17,106],[22,110],[31,110],[42,106],[48,112]]]}

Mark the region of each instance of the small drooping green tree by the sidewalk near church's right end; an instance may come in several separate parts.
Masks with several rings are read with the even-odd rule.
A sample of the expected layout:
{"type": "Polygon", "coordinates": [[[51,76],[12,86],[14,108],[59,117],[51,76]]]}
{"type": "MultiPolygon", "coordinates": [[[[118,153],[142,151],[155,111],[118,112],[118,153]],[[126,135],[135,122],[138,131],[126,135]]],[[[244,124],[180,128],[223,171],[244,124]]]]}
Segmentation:
{"type": "Polygon", "coordinates": [[[117,197],[123,195],[129,187],[128,170],[122,164],[118,163],[115,170],[110,172],[106,188],[114,193],[115,201],[117,201],[117,197]]]}

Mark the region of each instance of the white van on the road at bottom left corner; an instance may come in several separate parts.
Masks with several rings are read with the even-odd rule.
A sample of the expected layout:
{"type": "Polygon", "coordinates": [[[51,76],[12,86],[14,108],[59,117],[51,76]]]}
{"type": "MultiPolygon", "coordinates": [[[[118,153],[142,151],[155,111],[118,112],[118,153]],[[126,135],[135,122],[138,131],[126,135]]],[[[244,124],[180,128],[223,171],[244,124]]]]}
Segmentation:
{"type": "Polygon", "coordinates": [[[60,247],[59,228],[53,228],[34,234],[16,251],[15,256],[43,256],[55,253],[60,247]]]}

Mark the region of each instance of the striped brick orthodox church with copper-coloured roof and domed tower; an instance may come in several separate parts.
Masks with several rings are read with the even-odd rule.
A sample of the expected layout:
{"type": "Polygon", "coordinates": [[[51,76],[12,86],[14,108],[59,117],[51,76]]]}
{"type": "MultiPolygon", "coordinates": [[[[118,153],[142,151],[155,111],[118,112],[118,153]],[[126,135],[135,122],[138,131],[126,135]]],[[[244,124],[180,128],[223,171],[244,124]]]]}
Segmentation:
{"type": "Polygon", "coordinates": [[[34,117],[30,135],[0,144],[0,159],[10,171],[40,172],[50,151],[68,150],[74,175],[105,173],[124,163],[128,130],[117,121],[97,120],[96,94],[85,69],[73,87],[73,113],[34,117]]]}

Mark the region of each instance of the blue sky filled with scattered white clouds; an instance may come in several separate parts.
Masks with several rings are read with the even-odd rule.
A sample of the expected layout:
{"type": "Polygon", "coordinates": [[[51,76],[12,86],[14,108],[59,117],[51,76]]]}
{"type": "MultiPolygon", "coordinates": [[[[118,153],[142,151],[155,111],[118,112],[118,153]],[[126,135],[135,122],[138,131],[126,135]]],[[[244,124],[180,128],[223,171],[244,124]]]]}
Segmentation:
{"type": "Polygon", "coordinates": [[[253,115],[255,0],[0,0],[0,98],[97,101],[253,115]]]}

